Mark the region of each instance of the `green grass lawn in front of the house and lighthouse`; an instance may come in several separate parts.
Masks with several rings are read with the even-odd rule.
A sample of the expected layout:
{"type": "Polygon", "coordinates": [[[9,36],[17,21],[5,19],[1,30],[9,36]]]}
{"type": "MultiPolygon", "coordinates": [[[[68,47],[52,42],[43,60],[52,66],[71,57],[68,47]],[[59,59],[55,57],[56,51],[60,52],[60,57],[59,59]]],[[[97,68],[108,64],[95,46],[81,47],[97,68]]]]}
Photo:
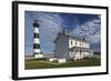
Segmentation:
{"type": "Polygon", "coordinates": [[[101,60],[97,58],[68,61],[65,63],[54,63],[44,60],[26,59],[24,67],[27,70],[31,69],[50,69],[50,68],[72,68],[72,67],[95,67],[100,65],[101,60]]]}

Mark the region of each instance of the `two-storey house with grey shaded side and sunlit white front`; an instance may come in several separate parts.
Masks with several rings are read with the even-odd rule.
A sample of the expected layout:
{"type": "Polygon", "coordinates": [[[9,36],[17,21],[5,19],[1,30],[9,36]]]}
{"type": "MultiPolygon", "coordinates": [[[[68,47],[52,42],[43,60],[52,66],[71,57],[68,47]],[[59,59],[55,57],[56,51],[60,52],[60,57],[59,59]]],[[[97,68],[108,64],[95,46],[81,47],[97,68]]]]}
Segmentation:
{"type": "Polygon", "coordinates": [[[65,34],[64,30],[58,33],[54,55],[61,61],[77,60],[93,55],[87,40],[65,34]]]}

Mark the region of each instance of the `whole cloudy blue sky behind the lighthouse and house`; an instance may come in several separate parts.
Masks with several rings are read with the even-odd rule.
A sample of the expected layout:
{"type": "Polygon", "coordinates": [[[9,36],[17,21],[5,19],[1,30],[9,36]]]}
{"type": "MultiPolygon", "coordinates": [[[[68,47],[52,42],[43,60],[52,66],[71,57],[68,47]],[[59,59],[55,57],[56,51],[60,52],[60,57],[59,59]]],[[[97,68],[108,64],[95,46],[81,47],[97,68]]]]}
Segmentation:
{"type": "Polygon", "coordinates": [[[31,55],[33,52],[33,20],[38,19],[40,24],[40,49],[43,53],[53,53],[54,39],[62,28],[67,34],[74,37],[85,37],[95,52],[101,48],[101,16],[83,13],[56,13],[26,11],[24,13],[24,52],[31,55]]]}

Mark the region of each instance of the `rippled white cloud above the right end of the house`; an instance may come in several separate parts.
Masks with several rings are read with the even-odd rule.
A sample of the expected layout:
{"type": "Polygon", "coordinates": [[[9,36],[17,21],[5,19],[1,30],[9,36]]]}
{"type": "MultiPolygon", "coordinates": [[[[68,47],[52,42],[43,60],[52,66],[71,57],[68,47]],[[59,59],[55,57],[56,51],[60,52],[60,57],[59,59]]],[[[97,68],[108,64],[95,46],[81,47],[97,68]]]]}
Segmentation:
{"type": "Polygon", "coordinates": [[[100,42],[100,20],[93,19],[81,26],[78,24],[78,27],[72,32],[69,32],[69,34],[82,38],[84,37],[91,44],[93,44],[100,42]]]}

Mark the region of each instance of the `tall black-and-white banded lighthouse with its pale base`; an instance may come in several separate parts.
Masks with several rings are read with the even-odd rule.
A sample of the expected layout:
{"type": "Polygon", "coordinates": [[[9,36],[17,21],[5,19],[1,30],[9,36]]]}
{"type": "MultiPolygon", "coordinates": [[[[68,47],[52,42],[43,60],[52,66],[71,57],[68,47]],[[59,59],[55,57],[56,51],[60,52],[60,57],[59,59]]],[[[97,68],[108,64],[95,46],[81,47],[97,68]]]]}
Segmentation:
{"type": "Polygon", "coordinates": [[[40,36],[39,36],[39,23],[38,20],[33,21],[33,54],[34,58],[43,58],[43,54],[40,53],[40,36]]]}

